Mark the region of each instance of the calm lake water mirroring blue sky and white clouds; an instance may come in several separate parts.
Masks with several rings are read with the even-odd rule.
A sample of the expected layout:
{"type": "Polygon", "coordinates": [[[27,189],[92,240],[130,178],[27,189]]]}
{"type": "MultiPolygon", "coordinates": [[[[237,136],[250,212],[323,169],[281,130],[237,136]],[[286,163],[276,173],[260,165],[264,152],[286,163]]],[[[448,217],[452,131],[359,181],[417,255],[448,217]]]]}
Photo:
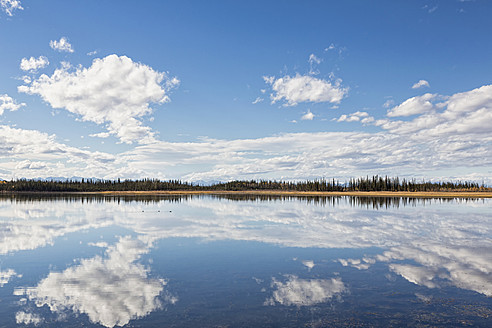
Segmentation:
{"type": "Polygon", "coordinates": [[[0,198],[0,327],[490,327],[492,199],[0,198]]]}

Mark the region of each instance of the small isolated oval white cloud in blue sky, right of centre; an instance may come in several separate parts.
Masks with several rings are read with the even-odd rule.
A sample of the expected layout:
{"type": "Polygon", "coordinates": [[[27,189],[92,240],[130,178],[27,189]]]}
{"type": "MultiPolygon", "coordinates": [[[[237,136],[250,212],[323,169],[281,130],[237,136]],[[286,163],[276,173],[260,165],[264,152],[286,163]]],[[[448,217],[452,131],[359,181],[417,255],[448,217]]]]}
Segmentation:
{"type": "Polygon", "coordinates": [[[285,101],[285,106],[295,106],[300,102],[338,104],[348,93],[348,88],[342,87],[339,79],[332,83],[309,75],[297,74],[278,79],[273,76],[264,77],[264,80],[272,87],[273,93],[270,94],[272,104],[282,100],[285,101]]]}

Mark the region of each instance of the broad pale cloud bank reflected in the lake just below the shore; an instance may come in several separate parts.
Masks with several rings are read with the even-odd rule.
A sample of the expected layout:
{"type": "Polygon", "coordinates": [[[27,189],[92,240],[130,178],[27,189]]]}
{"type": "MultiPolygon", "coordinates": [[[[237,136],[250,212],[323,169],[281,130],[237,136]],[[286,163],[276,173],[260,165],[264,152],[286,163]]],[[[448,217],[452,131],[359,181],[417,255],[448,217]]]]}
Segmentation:
{"type": "MultiPolygon", "coordinates": [[[[451,284],[492,296],[491,204],[490,200],[435,200],[427,201],[425,207],[413,204],[374,210],[356,207],[349,198],[326,204],[209,197],[187,198],[177,204],[163,200],[12,205],[3,201],[0,252],[35,249],[71,232],[106,226],[130,229],[152,240],[186,237],[306,248],[379,247],[386,251],[378,256],[338,261],[359,270],[383,262],[415,284],[429,288],[451,284]],[[12,217],[25,219],[5,219],[12,217]]],[[[102,266],[109,260],[93,261],[102,266]]],[[[124,263],[133,265],[129,260],[124,263]]]]}

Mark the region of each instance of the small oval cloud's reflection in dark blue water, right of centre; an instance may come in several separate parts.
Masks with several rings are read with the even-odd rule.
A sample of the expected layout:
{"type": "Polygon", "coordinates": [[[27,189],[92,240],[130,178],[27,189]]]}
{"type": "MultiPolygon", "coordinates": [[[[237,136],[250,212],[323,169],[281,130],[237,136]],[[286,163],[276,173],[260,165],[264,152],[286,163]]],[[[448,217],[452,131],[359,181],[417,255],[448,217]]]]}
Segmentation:
{"type": "Polygon", "coordinates": [[[346,287],[340,278],[332,279],[299,279],[297,276],[288,276],[283,283],[273,278],[274,290],[271,298],[267,299],[266,305],[296,305],[311,306],[327,302],[336,295],[346,291],[346,287]]]}

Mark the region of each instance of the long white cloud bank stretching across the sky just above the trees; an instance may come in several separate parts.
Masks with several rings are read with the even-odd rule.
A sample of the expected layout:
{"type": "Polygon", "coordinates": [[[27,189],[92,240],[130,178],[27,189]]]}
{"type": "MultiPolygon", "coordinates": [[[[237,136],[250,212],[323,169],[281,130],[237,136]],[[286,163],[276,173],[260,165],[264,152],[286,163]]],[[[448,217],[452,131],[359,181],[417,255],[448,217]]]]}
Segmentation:
{"type": "MultiPolygon", "coordinates": [[[[271,80],[273,83],[274,78],[271,80]]],[[[64,95],[60,97],[68,104],[64,95]]],[[[97,106],[94,108],[100,108],[96,101],[99,99],[105,101],[102,96],[95,97],[97,106]]],[[[73,100],[80,108],[86,102],[89,100],[84,97],[73,100]]],[[[70,108],[75,110],[79,107],[70,108]]],[[[87,108],[83,107],[84,113],[97,113],[95,109],[87,108]]],[[[104,119],[117,116],[113,109],[103,110],[104,119]],[[114,116],[109,116],[109,113],[114,116]]],[[[97,174],[101,178],[153,176],[201,182],[315,179],[320,176],[344,180],[366,174],[394,176],[405,173],[425,179],[439,177],[480,182],[484,179],[485,183],[492,183],[488,172],[492,160],[489,124],[492,121],[492,86],[446,97],[437,94],[413,97],[392,108],[390,113],[393,116],[376,119],[367,112],[358,111],[334,119],[372,124],[380,131],[283,133],[235,140],[154,141],[137,145],[117,156],[70,148],[39,132],[0,126],[0,152],[15,160],[15,163],[0,163],[0,170],[9,176],[25,174],[25,177],[49,177],[53,172],[54,176],[60,176],[62,172],[66,176],[81,176],[87,172],[87,176],[97,174]],[[416,114],[402,116],[411,113],[416,114]],[[65,164],[66,154],[69,154],[71,165],[65,164]],[[92,159],[93,166],[77,165],[81,158],[92,159]],[[46,159],[51,161],[44,163],[46,169],[34,170],[46,159]],[[25,160],[30,162],[23,162],[25,160]],[[60,162],[63,164],[61,168],[56,166],[60,162]],[[19,165],[17,169],[16,164],[19,165]]],[[[108,137],[110,134],[111,131],[104,131],[91,135],[108,137]]]]}

